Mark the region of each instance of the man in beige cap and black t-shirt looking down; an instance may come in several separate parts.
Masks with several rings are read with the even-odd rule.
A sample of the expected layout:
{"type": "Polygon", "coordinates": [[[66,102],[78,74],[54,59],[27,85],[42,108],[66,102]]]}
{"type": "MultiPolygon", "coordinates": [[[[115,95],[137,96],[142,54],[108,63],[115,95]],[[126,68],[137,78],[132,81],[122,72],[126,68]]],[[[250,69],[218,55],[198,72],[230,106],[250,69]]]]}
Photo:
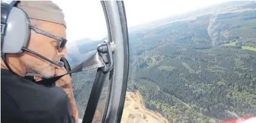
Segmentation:
{"type": "MultiPolygon", "coordinates": [[[[21,1],[17,7],[27,13],[32,27],[66,37],[64,15],[58,5],[51,1],[21,1]]],[[[58,63],[61,57],[67,56],[66,47],[58,49],[58,43],[31,29],[27,49],[58,63]]],[[[2,122],[78,122],[70,75],[56,82],[59,87],[39,85],[24,78],[27,73],[46,77],[63,75],[64,67],[59,68],[29,52],[7,54],[7,63],[17,75],[8,70],[1,58],[2,122]]]]}

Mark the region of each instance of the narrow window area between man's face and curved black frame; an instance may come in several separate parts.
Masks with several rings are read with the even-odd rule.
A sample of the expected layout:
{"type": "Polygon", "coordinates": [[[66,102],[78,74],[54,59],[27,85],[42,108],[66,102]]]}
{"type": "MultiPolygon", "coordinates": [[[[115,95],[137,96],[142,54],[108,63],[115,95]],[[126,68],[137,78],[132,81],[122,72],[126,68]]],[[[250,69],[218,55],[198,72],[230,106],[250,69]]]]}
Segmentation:
{"type": "MultiPolygon", "coordinates": [[[[104,12],[99,1],[81,1],[79,3],[56,1],[55,3],[63,9],[65,14],[66,38],[68,39],[66,44],[68,57],[66,59],[69,61],[70,68],[73,69],[95,53],[98,44],[108,39],[104,12]]],[[[93,69],[72,74],[74,98],[79,110],[80,122],[84,118],[96,71],[97,69],[93,69]]],[[[108,85],[108,82],[105,82],[105,85],[108,85]]],[[[103,88],[102,96],[98,102],[97,116],[103,114],[107,87],[103,88]]]]}

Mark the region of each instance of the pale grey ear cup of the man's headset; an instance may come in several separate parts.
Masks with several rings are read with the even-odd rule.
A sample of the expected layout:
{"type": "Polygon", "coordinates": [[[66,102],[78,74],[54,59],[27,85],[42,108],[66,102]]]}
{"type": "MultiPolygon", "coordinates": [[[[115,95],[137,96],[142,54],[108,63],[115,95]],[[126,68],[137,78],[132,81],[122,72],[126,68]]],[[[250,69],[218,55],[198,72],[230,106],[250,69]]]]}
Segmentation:
{"type": "Polygon", "coordinates": [[[24,10],[12,7],[9,12],[3,42],[3,53],[22,53],[30,40],[30,21],[24,10]]]}

